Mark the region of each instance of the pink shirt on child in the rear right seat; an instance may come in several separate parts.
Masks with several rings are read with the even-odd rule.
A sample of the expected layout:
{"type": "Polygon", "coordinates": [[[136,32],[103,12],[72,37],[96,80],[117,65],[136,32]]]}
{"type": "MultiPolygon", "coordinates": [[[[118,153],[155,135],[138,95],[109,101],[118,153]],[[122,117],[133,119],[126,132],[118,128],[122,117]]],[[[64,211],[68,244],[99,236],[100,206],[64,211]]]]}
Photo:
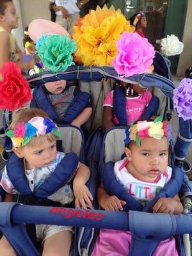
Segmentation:
{"type": "MultiPolygon", "coordinates": [[[[140,120],[151,99],[152,94],[148,91],[136,98],[126,97],[127,125],[130,125],[132,121],[135,122],[140,120]]],[[[106,99],[104,100],[103,107],[104,106],[113,108],[113,91],[107,94],[106,99]]],[[[113,118],[113,123],[119,123],[115,115],[113,118]]]]}

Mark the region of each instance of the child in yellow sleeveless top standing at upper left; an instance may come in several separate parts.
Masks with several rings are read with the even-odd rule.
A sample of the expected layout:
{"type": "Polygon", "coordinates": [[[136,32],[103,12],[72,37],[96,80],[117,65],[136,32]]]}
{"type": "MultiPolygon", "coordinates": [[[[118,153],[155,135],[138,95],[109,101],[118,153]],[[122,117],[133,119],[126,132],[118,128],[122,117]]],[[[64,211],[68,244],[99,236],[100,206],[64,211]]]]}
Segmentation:
{"type": "Polygon", "coordinates": [[[12,0],[0,0],[0,68],[6,61],[16,62],[22,70],[33,68],[34,60],[24,63],[22,51],[12,35],[12,29],[18,28],[19,16],[12,0]]]}

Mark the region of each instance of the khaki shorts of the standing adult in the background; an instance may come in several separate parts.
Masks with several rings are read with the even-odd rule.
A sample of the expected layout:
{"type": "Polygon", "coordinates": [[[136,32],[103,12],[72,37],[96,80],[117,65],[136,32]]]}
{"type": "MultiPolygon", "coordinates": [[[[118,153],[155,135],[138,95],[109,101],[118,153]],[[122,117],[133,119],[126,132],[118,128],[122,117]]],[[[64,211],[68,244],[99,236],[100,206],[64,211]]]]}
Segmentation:
{"type": "Polygon", "coordinates": [[[63,15],[56,15],[56,23],[65,28],[70,35],[74,32],[73,26],[77,25],[78,19],[79,13],[70,14],[67,19],[63,18],[63,15]]]}

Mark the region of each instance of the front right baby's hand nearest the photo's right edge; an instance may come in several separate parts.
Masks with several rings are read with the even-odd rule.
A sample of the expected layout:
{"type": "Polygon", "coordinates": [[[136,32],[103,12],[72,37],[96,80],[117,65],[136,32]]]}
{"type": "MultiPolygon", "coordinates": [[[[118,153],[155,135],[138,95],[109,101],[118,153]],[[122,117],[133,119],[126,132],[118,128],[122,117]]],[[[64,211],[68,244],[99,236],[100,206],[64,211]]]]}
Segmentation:
{"type": "Polygon", "coordinates": [[[164,212],[170,214],[180,214],[183,212],[183,206],[180,202],[179,195],[175,195],[173,198],[161,197],[153,207],[154,213],[164,212]]]}

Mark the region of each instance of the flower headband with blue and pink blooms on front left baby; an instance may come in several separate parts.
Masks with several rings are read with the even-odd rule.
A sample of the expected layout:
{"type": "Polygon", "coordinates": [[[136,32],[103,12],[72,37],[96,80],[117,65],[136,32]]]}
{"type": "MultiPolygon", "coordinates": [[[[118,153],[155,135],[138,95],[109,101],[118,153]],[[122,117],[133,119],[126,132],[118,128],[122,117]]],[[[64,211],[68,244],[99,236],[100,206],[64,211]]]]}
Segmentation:
{"type": "Polygon", "coordinates": [[[23,147],[35,136],[45,135],[52,132],[57,137],[61,135],[58,126],[49,117],[35,116],[29,122],[20,122],[15,125],[14,130],[6,132],[6,136],[12,139],[14,147],[23,147]]]}

